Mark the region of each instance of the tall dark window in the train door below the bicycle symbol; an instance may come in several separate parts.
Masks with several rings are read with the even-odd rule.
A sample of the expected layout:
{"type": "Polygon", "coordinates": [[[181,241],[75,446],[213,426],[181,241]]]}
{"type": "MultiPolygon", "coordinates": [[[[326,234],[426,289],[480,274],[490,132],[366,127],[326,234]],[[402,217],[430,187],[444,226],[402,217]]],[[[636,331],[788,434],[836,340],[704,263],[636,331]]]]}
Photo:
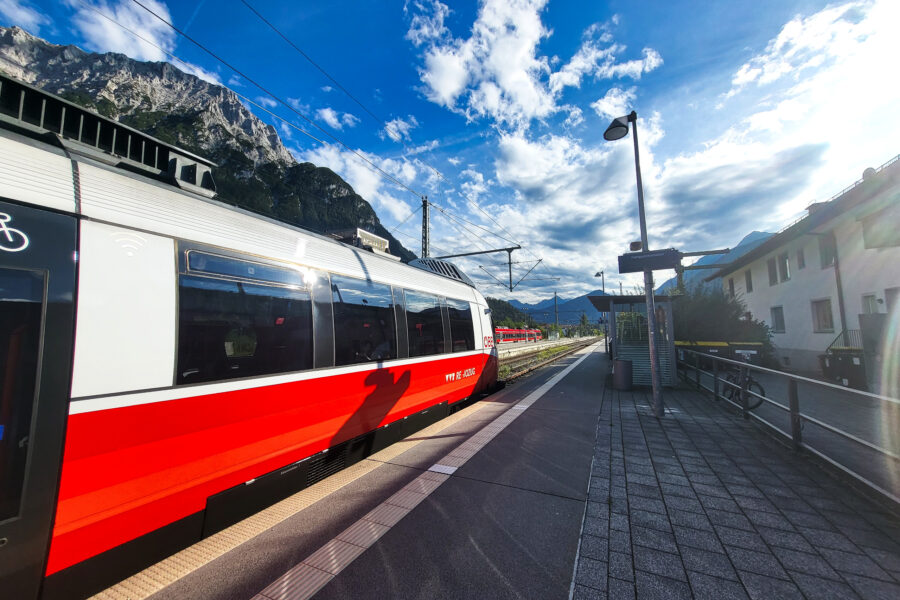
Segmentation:
{"type": "Polygon", "coordinates": [[[42,273],[0,269],[0,521],[22,501],[43,302],[42,273]]]}

